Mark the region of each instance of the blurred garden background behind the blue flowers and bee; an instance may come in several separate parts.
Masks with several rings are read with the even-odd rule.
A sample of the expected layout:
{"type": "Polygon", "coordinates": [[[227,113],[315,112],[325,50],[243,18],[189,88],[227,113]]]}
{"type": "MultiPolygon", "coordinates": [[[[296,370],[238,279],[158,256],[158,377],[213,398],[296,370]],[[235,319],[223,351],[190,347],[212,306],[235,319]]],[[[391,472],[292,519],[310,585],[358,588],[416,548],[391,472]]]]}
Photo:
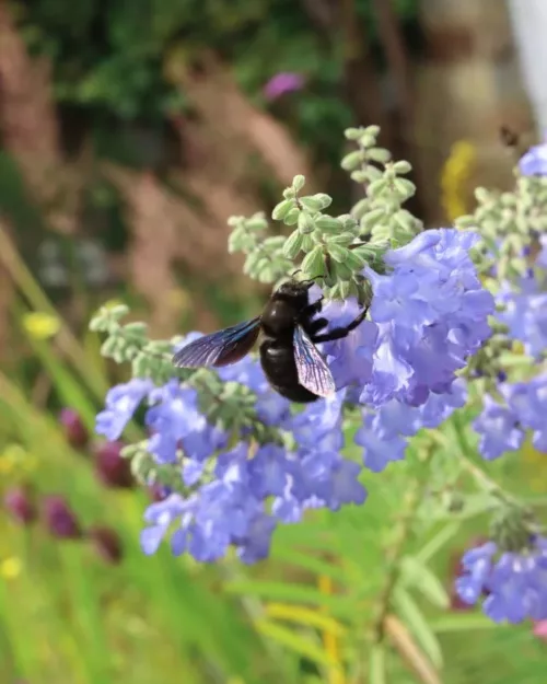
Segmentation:
{"type": "MultiPolygon", "coordinates": [[[[253,569],[147,558],[158,492],[93,437],[127,369],[86,325],[105,300],[155,337],[254,315],[268,290],[228,254],[226,219],[270,211],[300,173],[347,211],[350,125],[412,163],[428,225],[511,187],[500,127],[529,143],[547,125],[545,35],[545,0],[0,1],[0,684],[368,681],[393,530],[412,545],[404,465],[253,569]]],[[[545,456],[520,456],[501,475],[547,494],[545,456]]],[[[392,626],[389,682],[542,684],[547,628],[453,598],[484,521],[451,525],[420,550],[427,618],[407,605],[410,631],[392,626]]]]}

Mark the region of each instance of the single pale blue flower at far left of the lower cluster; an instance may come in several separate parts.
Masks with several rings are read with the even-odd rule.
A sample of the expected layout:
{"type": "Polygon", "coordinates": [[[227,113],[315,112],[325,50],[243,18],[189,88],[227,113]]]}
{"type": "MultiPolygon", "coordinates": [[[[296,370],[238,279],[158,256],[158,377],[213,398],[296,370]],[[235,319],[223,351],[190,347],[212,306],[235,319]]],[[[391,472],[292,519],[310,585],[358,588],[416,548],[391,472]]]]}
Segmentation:
{"type": "Polygon", "coordinates": [[[104,434],[109,442],[116,441],[153,386],[151,380],[133,378],[108,390],[105,409],[96,417],[96,433],[104,434]]]}

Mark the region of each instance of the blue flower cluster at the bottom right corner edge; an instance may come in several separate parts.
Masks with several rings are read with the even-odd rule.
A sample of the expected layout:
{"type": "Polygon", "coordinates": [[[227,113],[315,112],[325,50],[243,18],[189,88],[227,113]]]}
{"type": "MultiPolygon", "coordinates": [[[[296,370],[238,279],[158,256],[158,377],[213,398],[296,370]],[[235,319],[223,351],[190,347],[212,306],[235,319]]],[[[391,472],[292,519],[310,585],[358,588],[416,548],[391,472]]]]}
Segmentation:
{"type": "Polygon", "coordinates": [[[455,583],[459,598],[474,605],[487,594],[482,610],[493,622],[547,618],[547,537],[536,536],[521,553],[500,553],[487,542],[466,552],[462,565],[455,583]]]}

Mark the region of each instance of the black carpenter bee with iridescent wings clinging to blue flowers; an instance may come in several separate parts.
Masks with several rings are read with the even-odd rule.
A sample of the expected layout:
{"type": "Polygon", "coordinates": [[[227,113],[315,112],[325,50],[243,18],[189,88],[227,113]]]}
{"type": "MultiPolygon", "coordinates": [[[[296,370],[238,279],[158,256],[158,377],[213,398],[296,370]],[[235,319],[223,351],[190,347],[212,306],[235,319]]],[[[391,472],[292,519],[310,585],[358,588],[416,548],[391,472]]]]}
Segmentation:
{"type": "Polygon", "coordinates": [[[313,320],[322,300],[310,303],[313,280],[290,280],[270,297],[261,315],[205,335],[183,347],[173,357],[179,368],[222,367],[243,359],[263,333],[260,364],[270,385],[292,402],[310,403],[336,391],[330,370],[315,347],[318,343],[346,337],[366,315],[368,309],[347,326],[321,333],[328,321],[313,320]]]}

